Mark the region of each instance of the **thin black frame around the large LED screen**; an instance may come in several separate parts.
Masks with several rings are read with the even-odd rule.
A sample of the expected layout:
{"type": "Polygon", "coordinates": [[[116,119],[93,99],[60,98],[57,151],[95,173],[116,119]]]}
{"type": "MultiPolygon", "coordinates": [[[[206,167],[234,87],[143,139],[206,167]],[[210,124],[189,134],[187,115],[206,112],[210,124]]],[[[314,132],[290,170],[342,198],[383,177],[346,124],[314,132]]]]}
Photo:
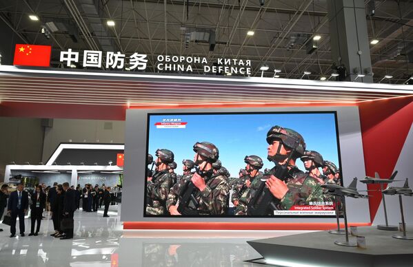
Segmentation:
{"type": "MultiPolygon", "coordinates": [[[[146,114],[146,136],[145,136],[145,166],[148,167],[149,138],[150,138],[150,116],[179,116],[179,115],[246,115],[246,114],[334,114],[334,125],[336,131],[337,153],[339,158],[339,173],[341,176],[340,184],[343,186],[343,168],[341,163],[341,145],[339,138],[339,122],[337,111],[228,111],[228,112],[148,112],[146,114]]],[[[146,176],[146,175],[145,175],[146,176]]],[[[148,189],[148,180],[145,179],[145,194],[143,195],[143,217],[159,218],[335,218],[336,215],[150,215],[146,214],[146,193],[148,189]]],[[[343,217],[343,215],[339,215],[343,217]]]]}

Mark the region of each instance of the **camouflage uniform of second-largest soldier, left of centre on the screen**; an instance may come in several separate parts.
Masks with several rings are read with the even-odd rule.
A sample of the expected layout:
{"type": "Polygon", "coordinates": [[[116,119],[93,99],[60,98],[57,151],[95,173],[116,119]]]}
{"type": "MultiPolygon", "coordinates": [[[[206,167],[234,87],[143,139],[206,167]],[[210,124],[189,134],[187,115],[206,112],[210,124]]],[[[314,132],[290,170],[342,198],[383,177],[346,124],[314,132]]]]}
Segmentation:
{"type": "MultiPolygon", "coordinates": [[[[172,205],[177,205],[179,197],[183,195],[186,184],[190,182],[192,175],[185,175],[178,184],[171,189],[166,202],[167,209],[172,205]]],[[[223,215],[228,209],[227,197],[229,186],[225,176],[221,174],[209,174],[205,176],[206,188],[203,191],[196,190],[194,197],[199,203],[195,206],[190,200],[188,209],[196,211],[199,215],[223,215]]]]}

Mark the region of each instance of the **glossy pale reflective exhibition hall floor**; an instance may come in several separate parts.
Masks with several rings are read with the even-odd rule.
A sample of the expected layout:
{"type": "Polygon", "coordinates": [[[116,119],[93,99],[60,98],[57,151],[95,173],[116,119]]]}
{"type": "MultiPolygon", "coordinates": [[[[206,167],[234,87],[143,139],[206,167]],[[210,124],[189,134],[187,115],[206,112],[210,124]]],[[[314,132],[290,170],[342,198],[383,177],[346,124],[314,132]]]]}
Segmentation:
{"type": "Polygon", "coordinates": [[[52,220],[43,220],[41,235],[8,237],[0,232],[0,266],[263,266],[244,260],[261,257],[247,241],[306,231],[125,231],[117,206],[109,218],[75,213],[74,239],[50,237],[52,220]]]}

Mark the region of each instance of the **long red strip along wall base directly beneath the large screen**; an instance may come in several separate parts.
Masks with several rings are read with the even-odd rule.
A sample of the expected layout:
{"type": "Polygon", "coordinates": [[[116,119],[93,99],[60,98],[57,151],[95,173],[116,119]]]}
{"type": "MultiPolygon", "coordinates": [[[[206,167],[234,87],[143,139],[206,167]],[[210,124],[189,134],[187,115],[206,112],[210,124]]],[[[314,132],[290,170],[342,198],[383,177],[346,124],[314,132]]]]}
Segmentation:
{"type": "MultiPolygon", "coordinates": [[[[355,222],[351,226],[370,226],[355,222]]],[[[330,230],[335,223],[264,223],[264,222],[123,222],[123,229],[169,230],[330,230]]],[[[344,227],[344,226],[343,226],[344,227]]]]}

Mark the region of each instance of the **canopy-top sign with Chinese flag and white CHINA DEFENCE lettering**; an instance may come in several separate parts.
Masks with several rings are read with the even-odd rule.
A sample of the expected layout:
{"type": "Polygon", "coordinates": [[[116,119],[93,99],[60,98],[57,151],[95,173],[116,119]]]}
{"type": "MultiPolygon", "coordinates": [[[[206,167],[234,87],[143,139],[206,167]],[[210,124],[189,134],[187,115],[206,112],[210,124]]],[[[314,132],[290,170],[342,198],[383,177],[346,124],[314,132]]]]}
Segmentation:
{"type": "MultiPolygon", "coordinates": [[[[50,66],[51,47],[48,45],[16,45],[14,53],[14,65],[22,66],[50,66]]],[[[104,67],[107,70],[146,70],[148,67],[148,55],[134,52],[127,55],[121,52],[103,52],[95,50],[83,50],[83,52],[61,51],[59,61],[66,67],[104,67]]],[[[251,61],[238,58],[216,58],[214,62],[208,62],[204,56],[170,56],[159,55],[156,62],[151,63],[154,69],[163,72],[203,72],[251,74],[251,61]]]]}

